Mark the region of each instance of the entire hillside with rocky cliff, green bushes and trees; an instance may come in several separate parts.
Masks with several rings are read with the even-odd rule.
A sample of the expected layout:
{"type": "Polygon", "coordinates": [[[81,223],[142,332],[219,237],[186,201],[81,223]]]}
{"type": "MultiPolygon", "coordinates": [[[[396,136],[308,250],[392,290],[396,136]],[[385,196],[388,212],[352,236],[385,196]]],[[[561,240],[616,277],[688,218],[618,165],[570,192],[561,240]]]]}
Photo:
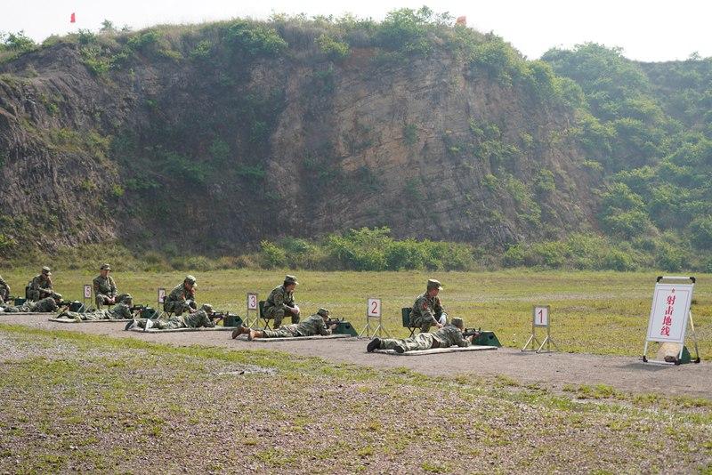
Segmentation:
{"type": "Polygon", "coordinates": [[[4,36],[0,256],[712,270],[712,60],[526,60],[452,23],[4,36]]]}

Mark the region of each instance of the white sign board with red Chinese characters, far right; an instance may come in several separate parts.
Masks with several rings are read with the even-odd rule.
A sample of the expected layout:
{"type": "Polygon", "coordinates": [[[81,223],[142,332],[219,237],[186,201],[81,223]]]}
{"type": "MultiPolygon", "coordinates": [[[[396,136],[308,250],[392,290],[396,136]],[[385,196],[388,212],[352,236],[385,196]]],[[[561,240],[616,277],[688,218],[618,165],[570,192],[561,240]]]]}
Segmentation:
{"type": "Polygon", "coordinates": [[[683,343],[691,303],[692,284],[656,284],[648,341],[683,343]]]}

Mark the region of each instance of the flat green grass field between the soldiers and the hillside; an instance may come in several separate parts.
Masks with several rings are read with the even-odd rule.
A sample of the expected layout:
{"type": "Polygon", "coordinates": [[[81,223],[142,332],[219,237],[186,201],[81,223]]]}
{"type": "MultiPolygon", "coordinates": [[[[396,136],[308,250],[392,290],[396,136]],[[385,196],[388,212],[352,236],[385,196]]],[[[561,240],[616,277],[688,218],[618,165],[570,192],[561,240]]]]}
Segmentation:
{"type": "MultiPolygon", "coordinates": [[[[119,262],[112,265],[120,269],[119,262]]],[[[11,270],[4,278],[17,293],[37,270],[11,270]]],[[[194,273],[198,302],[244,315],[247,292],[264,299],[281,283],[286,270],[220,270],[194,273]]],[[[55,288],[79,298],[82,285],[95,273],[57,271],[55,288]]],[[[168,291],[183,273],[112,274],[119,290],[134,294],[134,302],[156,302],[157,287],[168,291]]],[[[712,360],[712,275],[698,275],[692,315],[702,359],[712,360]]],[[[405,336],[401,307],[412,305],[427,278],[438,278],[441,300],[451,317],[466,326],[494,330],[506,346],[522,347],[531,330],[534,304],[551,305],[552,335],[561,350],[634,356],[641,354],[656,275],[629,272],[562,272],[506,270],[498,272],[314,272],[297,273],[296,301],[303,312],[320,306],[347,318],[359,330],[365,325],[366,299],[383,300],[384,322],[391,334],[405,336]]],[[[692,351],[692,345],[690,345],[692,351]]]]}

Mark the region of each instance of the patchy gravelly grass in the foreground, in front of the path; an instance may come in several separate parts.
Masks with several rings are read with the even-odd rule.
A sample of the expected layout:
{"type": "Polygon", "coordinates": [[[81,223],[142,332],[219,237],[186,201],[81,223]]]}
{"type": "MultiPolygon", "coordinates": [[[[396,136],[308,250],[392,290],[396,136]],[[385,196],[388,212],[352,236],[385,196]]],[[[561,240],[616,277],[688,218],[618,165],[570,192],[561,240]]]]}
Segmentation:
{"type": "Polygon", "coordinates": [[[708,399],[0,324],[0,472],[712,471],[708,399]]]}

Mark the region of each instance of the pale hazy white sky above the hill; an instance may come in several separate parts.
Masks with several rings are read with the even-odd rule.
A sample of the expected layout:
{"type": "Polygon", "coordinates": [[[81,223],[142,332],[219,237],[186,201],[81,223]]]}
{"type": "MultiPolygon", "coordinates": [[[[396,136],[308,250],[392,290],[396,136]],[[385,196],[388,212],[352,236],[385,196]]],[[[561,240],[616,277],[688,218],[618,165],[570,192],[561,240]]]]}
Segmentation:
{"type": "Polygon", "coordinates": [[[41,41],[78,28],[97,30],[104,19],[138,29],[158,23],[200,23],[247,16],[267,19],[273,12],[336,16],[351,12],[381,20],[392,9],[418,8],[423,4],[436,12],[466,15],[468,26],[503,36],[530,59],[554,46],[570,47],[587,41],[620,46],[625,56],[633,60],[684,60],[692,52],[712,56],[709,0],[0,0],[0,32],[24,30],[41,41]],[[77,13],[74,24],[69,23],[72,12],[77,13]]]}

